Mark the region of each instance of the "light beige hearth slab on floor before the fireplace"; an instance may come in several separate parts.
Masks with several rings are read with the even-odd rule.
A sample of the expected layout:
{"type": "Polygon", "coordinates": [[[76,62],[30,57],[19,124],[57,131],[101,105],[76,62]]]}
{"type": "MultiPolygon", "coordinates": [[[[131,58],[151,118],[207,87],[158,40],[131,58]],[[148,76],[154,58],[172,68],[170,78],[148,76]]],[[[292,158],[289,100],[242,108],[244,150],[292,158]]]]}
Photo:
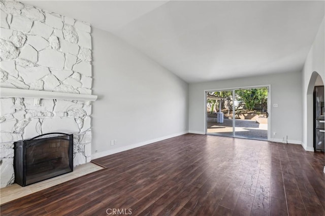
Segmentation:
{"type": "Polygon", "coordinates": [[[41,191],[46,188],[50,188],[54,185],[59,185],[63,182],[68,182],[71,179],[83,176],[85,174],[103,169],[103,167],[98,166],[94,163],[86,163],[74,167],[74,171],[60,175],[54,178],[47,179],[45,181],[21,187],[20,185],[13,184],[1,189],[0,204],[18,199],[20,197],[41,191]]]}

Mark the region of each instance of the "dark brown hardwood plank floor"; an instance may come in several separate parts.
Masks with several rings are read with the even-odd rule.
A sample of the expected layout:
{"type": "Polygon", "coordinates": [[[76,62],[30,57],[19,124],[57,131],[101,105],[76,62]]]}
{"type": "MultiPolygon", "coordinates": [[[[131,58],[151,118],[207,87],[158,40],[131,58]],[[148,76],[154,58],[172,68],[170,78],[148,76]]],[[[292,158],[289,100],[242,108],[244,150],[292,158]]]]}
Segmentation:
{"type": "Polygon", "coordinates": [[[1,214],[325,215],[324,154],[300,145],[185,134],[94,162],[1,214]]]}

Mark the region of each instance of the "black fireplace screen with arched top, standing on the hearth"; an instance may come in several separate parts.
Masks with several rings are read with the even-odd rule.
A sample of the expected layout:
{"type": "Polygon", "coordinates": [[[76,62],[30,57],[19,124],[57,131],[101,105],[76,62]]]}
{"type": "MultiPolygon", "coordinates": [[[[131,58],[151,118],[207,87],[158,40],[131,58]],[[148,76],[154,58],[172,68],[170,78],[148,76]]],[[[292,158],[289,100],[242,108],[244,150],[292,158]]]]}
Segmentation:
{"type": "Polygon", "coordinates": [[[47,133],[15,142],[15,182],[27,186],[73,171],[73,135],[47,133]]]}

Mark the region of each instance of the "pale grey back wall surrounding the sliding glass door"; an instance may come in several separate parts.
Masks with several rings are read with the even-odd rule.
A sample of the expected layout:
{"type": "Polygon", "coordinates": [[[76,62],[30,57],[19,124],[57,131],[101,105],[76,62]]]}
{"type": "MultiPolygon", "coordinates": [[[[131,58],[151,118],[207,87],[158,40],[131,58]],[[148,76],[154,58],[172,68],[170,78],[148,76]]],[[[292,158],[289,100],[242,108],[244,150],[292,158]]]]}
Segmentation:
{"type": "Polygon", "coordinates": [[[271,85],[271,135],[273,140],[282,140],[288,135],[291,143],[301,143],[301,73],[283,73],[259,77],[221,80],[189,84],[189,131],[205,133],[204,91],[259,85],[271,85]],[[277,103],[278,107],[272,104],[277,103]]]}

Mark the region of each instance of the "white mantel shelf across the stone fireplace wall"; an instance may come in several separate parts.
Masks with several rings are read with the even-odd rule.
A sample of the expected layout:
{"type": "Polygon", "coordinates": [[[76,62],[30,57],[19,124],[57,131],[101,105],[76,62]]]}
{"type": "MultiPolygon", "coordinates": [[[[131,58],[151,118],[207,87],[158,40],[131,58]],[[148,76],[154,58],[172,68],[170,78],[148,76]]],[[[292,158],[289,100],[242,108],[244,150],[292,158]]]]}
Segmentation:
{"type": "Polygon", "coordinates": [[[90,101],[95,101],[98,96],[92,94],[75,94],[65,92],[37,91],[28,89],[0,88],[0,97],[34,98],[35,104],[39,104],[40,99],[84,100],[89,103],[90,101]]]}

